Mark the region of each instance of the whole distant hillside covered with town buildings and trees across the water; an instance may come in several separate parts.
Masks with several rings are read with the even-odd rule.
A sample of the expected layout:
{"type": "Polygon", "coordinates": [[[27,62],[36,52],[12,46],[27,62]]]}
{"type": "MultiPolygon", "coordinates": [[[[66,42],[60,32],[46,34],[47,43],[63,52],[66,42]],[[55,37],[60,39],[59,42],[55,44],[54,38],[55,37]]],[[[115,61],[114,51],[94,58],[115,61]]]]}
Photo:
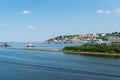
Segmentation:
{"type": "Polygon", "coordinates": [[[120,32],[112,33],[91,33],[91,34],[76,34],[76,35],[61,35],[45,41],[45,43],[73,43],[87,40],[102,40],[110,42],[120,42],[120,32]]]}

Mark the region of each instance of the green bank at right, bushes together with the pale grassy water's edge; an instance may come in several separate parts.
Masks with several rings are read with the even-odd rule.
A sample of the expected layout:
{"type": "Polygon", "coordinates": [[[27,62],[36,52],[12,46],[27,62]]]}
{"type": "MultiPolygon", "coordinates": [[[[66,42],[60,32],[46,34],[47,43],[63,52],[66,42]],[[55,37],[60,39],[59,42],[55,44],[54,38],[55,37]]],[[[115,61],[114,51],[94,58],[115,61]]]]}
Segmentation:
{"type": "Polygon", "coordinates": [[[120,58],[120,44],[91,43],[80,46],[66,46],[62,51],[69,54],[120,58]]]}

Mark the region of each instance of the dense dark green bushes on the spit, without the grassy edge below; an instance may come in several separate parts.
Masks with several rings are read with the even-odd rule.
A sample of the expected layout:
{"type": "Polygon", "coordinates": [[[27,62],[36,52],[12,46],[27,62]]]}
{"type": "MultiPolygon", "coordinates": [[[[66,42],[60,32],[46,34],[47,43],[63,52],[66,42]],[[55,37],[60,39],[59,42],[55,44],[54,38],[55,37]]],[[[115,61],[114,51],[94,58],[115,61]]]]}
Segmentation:
{"type": "Polygon", "coordinates": [[[85,44],[82,46],[67,46],[63,51],[73,52],[97,52],[107,54],[120,54],[120,44],[85,44]]]}

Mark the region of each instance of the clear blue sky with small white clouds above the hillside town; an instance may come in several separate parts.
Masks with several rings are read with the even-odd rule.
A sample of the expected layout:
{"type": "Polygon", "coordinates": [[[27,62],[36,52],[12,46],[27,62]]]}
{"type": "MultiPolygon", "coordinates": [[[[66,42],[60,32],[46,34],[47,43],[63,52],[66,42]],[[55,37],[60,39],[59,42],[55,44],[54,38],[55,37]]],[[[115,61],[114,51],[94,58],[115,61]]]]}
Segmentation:
{"type": "Polygon", "coordinates": [[[0,41],[120,31],[120,0],[0,0],[0,41]]]}

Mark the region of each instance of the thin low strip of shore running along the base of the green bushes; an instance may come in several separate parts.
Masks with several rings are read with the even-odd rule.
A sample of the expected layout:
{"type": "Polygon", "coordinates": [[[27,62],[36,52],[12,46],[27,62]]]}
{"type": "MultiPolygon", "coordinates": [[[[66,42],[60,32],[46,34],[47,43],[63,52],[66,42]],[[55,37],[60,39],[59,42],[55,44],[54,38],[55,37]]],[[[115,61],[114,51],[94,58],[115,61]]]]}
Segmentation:
{"type": "Polygon", "coordinates": [[[44,51],[44,52],[62,52],[65,54],[76,54],[76,55],[85,55],[85,56],[96,56],[96,57],[111,57],[111,58],[120,58],[120,54],[117,53],[99,53],[99,52],[76,52],[76,51],[64,51],[57,49],[46,49],[46,48],[10,48],[16,50],[31,50],[31,51],[44,51]]]}

